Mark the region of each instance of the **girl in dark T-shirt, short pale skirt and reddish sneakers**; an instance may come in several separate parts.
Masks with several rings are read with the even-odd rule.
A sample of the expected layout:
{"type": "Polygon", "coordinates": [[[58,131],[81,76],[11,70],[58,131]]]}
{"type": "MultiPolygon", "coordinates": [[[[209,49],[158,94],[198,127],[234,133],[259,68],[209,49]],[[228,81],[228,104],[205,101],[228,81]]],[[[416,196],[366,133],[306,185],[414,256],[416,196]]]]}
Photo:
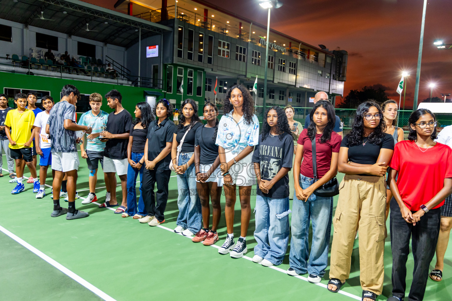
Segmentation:
{"type": "Polygon", "coordinates": [[[218,131],[218,109],[212,102],[206,102],[202,108],[207,125],[198,129],[195,135],[195,171],[196,187],[201,199],[203,228],[193,237],[193,242],[213,245],[218,241],[218,222],[221,216],[221,170],[218,146],[215,144],[218,131]],[[209,230],[210,204],[212,202],[212,229],[209,230]]]}

